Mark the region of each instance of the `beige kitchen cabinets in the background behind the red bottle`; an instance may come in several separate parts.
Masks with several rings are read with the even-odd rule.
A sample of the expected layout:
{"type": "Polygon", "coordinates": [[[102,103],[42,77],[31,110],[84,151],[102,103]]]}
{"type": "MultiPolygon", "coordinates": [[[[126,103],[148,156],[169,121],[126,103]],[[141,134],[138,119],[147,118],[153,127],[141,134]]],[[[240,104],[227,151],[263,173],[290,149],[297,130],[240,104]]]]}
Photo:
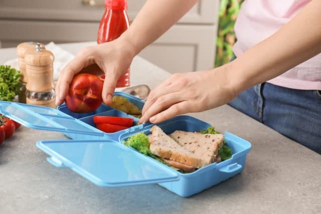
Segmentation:
{"type": "MultiPolygon", "coordinates": [[[[129,0],[133,20],[145,0],[129,0]]],[[[97,0],[0,0],[0,44],[95,41],[103,14],[97,0]],[[96,4],[97,6],[91,6],[96,4]]],[[[139,55],[171,73],[212,68],[219,0],[201,0],[176,25],[139,55]]]]}

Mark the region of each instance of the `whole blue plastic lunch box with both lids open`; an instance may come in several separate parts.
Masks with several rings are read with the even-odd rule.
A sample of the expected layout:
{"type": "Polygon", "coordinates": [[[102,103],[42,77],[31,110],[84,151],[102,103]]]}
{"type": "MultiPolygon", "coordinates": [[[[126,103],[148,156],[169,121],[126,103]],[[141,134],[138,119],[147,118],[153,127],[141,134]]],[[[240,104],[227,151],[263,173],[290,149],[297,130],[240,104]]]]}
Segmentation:
{"type": "MultiPolygon", "coordinates": [[[[142,108],[143,102],[129,94],[116,92],[142,108]]],[[[62,105],[58,109],[0,101],[0,113],[24,126],[64,133],[73,140],[46,140],[37,146],[50,157],[47,160],[57,167],[69,167],[99,186],[117,187],[158,183],[176,194],[188,197],[210,188],[244,169],[251,144],[229,132],[225,141],[232,149],[232,157],[212,163],[192,173],[181,173],[123,145],[123,141],[136,133],[149,134],[151,123],[132,126],[114,133],[104,133],[95,128],[93,116],[130,117],[124,112],[102,104],[88,114],[70,112],[62,105]]],[[[134,123],[138,121],[134,118],[134,123]]],[[[165,133],[175,130],[197,131],[210,124],[191,116],[177,116],[157,124],[165,133]]]]}

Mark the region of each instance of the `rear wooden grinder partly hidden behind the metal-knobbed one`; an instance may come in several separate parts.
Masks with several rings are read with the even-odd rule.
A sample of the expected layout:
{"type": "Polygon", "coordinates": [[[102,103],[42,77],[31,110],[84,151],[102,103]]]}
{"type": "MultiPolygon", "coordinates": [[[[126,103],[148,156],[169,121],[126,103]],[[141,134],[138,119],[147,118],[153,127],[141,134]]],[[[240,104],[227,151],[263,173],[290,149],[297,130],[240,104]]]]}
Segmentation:
{"type": "MultiPolygon", "coordinates": [[[[21,82],[22,87],[20,89],[19,102],[26,103],[26,84],[28,82],[27,74],[26,74],[26,64],[25,64],[25,54],[27,51],[34,50],[36,42],[24,42],[17,46],[17,54],[18,54],[18,66],[19,71],[22,74],[21,82]]],[[[43,45],[44,49],[45,46],[43,45]]]]}

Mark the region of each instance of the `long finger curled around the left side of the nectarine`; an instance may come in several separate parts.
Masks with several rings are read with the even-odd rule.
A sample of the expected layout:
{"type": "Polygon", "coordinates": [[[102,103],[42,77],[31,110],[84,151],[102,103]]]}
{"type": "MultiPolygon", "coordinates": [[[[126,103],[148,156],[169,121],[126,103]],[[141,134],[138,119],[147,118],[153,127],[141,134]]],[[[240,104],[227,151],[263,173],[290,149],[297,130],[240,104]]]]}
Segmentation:
{"type": "Polygon", "coordinates": [[[68,95],[69,85],[75,74],[79,73],[83,68],[94,63],[92,53],[94,47],[88,47],[81,50],[76,57],[60,72],[60,76],[56,85],[56,105],[64,102],[68,95]],[[91,56],[91,57],[88,57],[91,56]]]}

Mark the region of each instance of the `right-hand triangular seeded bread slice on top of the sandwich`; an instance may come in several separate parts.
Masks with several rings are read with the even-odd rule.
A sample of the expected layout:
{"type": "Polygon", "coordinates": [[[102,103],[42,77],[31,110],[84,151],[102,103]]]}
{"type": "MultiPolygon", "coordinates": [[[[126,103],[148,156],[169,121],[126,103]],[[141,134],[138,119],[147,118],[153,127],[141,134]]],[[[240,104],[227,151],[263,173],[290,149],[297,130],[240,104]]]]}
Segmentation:
{"type": "Polygon", "coordinates": [[[185,149],[202,159],[201,166],[216,160],[219,148],[223,145],[223,134],[201,134],[198,132],[175,131],[170,136],[185,149]]]}

